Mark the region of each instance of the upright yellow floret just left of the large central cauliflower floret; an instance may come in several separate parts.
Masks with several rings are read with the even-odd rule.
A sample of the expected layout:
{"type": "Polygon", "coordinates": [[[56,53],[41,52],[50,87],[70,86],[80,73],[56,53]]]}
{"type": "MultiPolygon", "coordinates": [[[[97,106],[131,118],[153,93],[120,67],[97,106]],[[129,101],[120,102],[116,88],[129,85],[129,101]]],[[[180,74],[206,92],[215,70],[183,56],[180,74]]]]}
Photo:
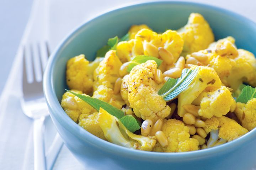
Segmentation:
{"type": "Polygon", "coordinates": [[[116,51],[108,51],[105,58],[94,70],[94,91],[102,84],[113,89],[114,83],[119,77],[119,68],[121,65],[122,63],[117,57],[116,51]]]}

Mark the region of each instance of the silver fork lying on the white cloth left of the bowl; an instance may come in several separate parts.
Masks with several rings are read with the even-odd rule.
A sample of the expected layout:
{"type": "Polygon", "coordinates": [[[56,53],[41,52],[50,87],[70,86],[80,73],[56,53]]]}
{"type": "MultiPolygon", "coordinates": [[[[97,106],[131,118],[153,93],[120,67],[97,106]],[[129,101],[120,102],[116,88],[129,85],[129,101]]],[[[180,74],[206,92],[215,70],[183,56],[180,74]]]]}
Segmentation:
{"type": "Polygon", "coordinates": [[[23,112],[34,119],[34,169],[46,170],[44,150],[44,120],[49,115],[43,95],[42,77],[49,56],[47,43],[24,47],[23,51],[23,112]],[[29,59],[30,58],[30,59],[29,59]],[[32,67],[29,67],[32,66],[32,67]]]}

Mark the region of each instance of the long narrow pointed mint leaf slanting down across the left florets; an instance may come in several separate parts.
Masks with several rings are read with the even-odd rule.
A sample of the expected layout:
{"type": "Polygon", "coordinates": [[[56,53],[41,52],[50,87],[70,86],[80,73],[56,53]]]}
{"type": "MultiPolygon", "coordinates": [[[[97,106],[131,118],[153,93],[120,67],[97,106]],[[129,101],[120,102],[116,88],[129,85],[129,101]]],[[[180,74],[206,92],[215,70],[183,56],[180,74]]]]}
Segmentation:
{"type": "Polygon", "coordinates": [[[107,111],[108,113],[110,113],[111,115],[117,117],[118,119],[124,117],[124,112],[122,110],[112,106],[111,104],[108,104],[107,102],[103,102],[101,100],[98,100],[97,98],[92,98],[90,96],[84,96],[84,95],[76,94],[75,92],[70,91],[70,90],[66,90],[66,91],[68,91],[71,94],[79,97],[81,100],[85,101],[86,103],[90,104],[97,111],[99,111],[100,108],[102,108],[105,111],[107,111]]]}

